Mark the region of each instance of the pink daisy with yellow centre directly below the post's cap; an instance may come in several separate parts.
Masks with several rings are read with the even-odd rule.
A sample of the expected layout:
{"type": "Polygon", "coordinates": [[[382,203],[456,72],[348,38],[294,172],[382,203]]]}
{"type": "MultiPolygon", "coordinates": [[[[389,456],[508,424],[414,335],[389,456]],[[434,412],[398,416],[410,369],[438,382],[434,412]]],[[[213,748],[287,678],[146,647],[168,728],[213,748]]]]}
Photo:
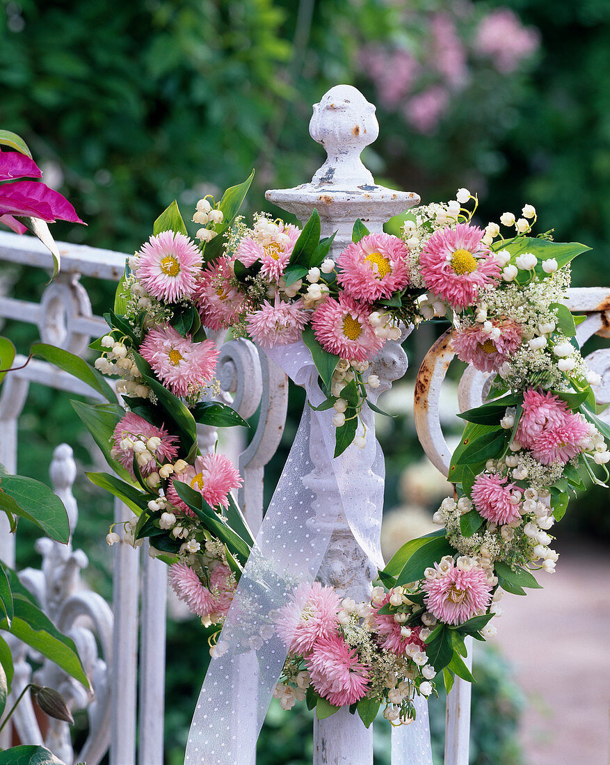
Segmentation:
{"type": "Polygon", "coordinates": [[[338,257],[340,285],[352,298],[372,303],[389,298],[409,284],[406,257],[409,252],[397,236],[369,234],[349,244],[338,257]]]}

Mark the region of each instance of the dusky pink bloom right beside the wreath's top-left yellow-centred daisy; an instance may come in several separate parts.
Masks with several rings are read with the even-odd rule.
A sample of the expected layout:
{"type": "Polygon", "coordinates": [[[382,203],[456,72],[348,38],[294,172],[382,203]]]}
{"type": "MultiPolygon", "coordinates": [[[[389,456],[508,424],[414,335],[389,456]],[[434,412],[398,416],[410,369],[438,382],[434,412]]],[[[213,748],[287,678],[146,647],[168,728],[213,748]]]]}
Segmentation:
{"type": "Polygon", "coordinates": [[[217,332],[235,324],[245,310],[243,294],[230,285],[233,259],[220,258],[201,273],[195,289],[201,324],[217,332]]]}

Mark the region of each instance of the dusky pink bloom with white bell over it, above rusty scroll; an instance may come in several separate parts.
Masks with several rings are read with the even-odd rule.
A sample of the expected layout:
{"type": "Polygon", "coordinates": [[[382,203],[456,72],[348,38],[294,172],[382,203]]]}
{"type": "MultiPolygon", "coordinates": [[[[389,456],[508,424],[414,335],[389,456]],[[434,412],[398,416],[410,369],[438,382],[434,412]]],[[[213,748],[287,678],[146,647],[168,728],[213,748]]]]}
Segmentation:
{"type": "Polygon", "coordinates": [[[521,327],[511,319],[492,319],[491,324],[501,330],[497,340],[483,332],[482,324],[456,330],[452,347],[458,359],[472,364],[481,372],[496,372],[520,347],[521,327]]]}

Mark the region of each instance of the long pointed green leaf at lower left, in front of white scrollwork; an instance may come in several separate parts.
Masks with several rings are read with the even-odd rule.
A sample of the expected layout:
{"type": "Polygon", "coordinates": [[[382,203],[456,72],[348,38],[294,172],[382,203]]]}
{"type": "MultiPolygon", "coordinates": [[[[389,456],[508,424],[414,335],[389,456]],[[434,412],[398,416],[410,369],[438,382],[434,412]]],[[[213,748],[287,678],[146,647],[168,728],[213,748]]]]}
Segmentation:
{"type": "Polygon", "coordinates": [[[89,688],[89,680],[83,665],[80,663],[77,647],[73,640],[60,633],[36,604],[15,591],[13,578],[11,578],[11,588],[14,596],[15,618],[12,620],[10,630],[8,630],[6,619],[0,621],[0,627],[8,630],[11,635],[15,635],[19,640],[23,640],[24,643],[39,651],[47,659],[51,659],[68,675],[89,688]]]}

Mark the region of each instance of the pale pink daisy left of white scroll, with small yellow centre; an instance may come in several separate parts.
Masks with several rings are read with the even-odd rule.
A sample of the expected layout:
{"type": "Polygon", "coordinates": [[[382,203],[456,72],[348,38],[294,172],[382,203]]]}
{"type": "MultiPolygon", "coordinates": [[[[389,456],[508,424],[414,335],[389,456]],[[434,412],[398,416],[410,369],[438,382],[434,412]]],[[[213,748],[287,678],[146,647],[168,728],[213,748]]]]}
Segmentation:
{"type": "Polygon", "coordinates": [[[175,396],[187,396],[214,375],[220,350],[213,340],[193,343],[165,324],[148,332],[140,353],[175,396]]]}

